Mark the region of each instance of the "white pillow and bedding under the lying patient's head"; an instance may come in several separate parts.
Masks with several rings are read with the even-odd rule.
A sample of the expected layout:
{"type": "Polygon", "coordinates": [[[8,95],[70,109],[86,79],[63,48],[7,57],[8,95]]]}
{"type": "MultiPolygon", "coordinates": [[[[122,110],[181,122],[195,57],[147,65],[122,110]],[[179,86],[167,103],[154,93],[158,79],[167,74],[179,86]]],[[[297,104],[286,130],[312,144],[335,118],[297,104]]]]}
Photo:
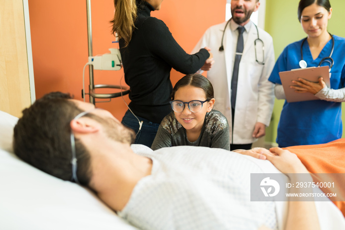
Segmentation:
{"type": "Polygon", "coordinates": [[[92,192],[16,157],[12,136],[17,120],[0,111],[0,229],[136,230],[92,192]]]}

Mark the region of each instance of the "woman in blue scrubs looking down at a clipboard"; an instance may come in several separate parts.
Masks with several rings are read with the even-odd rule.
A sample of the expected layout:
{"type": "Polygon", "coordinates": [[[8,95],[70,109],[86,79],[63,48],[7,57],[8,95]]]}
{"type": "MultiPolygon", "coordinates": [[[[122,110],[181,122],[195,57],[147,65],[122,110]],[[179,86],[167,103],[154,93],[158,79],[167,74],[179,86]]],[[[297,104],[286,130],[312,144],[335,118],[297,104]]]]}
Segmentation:
{"type": "Polygon", "coordinates": [[[285,99],[279,72],[305,67],[305,64],[307,67],[328,65],[331,88],[326,86],[322,77],[318,82],[302,78],[292,81],[293,85],[290,87],[295,91],[312,93],[320,100],[292,103],[285,101],[276,138],[279,147],[321,144],[342,137],[341,102],[345,101],[345,38],[328,33],[327,23],[331,16],[329,0],[299,2],[298,19],[307,38],[285,47],[269,80],[276,83],[276,98],[285,99]],[[301,60],[306,63],[303,65],[301,62],[300,65],[301,60]]]}

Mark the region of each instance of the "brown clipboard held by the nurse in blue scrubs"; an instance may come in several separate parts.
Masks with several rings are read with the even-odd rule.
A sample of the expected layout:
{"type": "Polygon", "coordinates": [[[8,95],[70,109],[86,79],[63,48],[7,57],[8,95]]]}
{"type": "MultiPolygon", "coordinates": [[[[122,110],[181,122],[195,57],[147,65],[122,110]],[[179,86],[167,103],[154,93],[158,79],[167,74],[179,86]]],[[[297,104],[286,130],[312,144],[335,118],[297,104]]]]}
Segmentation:
{"type": "Polygon", "coordinates": [[[295,89],[290,88],[293,83],[292,80],[303,78],[309,81],[318,82],[319,77],[323,77],[327,87],[330,88],[330,73],[328,66],[310,67],[305,69],[295,69],[291,71],[279,72],[281,84],[283,85],[285,98],[287,102],[300,102],[320,100],[311,93],[298,93],[295,89]]]}

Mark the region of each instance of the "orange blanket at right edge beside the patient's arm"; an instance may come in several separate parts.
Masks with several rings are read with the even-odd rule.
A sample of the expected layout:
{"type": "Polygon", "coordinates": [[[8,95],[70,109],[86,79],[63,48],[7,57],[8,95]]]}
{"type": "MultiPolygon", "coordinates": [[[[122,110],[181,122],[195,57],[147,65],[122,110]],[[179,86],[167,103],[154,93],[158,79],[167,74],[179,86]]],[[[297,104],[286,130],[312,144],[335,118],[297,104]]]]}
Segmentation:
{"type": "Polygon", "coordinates": [[[315,183],[334,182],[334,188],[320,189],[324,193],[337,193],[335,197],[337,201],[332,197],[330,199],[345,216],[345,138],[327,144],[293,146],[284,149],[295,153],[310,173],[317,173],[316,177],[313,176],[315,183]]]}

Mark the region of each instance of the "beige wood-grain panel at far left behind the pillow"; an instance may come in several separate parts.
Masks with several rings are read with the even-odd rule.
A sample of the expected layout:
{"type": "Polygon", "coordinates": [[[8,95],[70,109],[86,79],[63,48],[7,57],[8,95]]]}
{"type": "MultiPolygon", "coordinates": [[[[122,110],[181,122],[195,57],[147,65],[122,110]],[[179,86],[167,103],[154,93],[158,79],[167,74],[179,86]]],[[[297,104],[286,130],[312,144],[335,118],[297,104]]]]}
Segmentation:
{"type": "Polygon", "coordinates": [[[19,117],[31,104],[23,1],[0,5],[0,110],[19,117]]]}

